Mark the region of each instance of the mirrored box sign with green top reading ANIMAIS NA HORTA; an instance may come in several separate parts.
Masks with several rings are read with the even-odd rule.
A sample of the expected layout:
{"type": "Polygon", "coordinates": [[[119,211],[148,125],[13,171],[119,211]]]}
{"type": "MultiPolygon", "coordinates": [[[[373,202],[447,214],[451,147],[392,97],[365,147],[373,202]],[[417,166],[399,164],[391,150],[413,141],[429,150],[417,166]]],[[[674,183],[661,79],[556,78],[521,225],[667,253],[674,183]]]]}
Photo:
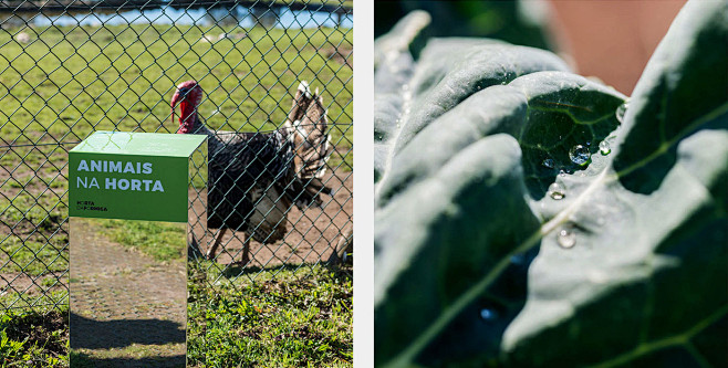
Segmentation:
{"type": "Polygon", "coordinates": [[[207,218],[200,213],[206,211],[206,138],[96,132],[69,151],[72,359],[107,349],[111,361],[115,348],[138,345],[167,349],[160,354],[167,359],[158,361],[165,367],[184,366],[186,244],[206,239],[206,223],[197,220],[207,218]],[[167,229],[148,221],[188,224],[177,232],[167,225],[186,234],[174,256],[144,251],[155,244],[108,241],[114,233],[137,239],[124,233],[134,229],[150,232],[138,239],[167,229]]]}

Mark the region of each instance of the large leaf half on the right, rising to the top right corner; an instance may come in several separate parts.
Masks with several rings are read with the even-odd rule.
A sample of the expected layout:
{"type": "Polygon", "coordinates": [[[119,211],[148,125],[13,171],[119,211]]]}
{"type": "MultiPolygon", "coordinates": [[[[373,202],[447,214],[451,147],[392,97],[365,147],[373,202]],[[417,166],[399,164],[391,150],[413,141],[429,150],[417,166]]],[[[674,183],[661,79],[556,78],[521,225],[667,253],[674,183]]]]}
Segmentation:
{"type": "Polygon", "coordinates": [[[561,254],[542,228],[528,302],[505,334],[511,362],[726,364],[726,41],[728,3],[680,11],[635,87],[612,167],[566,186],[578,198],[547,223],[578,229],[583,254],[561,254]],[[594,225],[600,212],[613,215],[594,225]]]}

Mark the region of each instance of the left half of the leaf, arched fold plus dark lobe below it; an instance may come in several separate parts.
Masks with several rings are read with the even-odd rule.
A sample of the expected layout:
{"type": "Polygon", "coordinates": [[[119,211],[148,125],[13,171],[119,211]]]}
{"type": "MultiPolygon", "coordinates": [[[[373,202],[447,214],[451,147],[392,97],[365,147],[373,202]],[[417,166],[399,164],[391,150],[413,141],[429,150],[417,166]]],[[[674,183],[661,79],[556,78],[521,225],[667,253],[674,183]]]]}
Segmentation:
{"type": "MultiPolygon", "coordinates": [[[[522,306],[523,291],[483,299],[481,286],[493,280],[482,277],[506,271],[533,245],[540,220],[528,198],[543,197],[559,167],[575,168],[570,147],[593,141],[595,148],[616,127],[623,102],[613,88],[578,75],[533,73],[474,94],[394,157],[375,214],[377,358],[427,344],[462,308],[477,317],[471,303],[522,306]],[[547,156],[554,168],[540,166],[547,156]],[[539,165],[524,165],[533,160],[539,165]],[[519,243],[528,245],[513,249],[519,243]]],[[[526,269],[516,269],[510,272],[524,280],[526,269]]],[[[497,351],[506,326],[479,343],[497,351]]]]}

